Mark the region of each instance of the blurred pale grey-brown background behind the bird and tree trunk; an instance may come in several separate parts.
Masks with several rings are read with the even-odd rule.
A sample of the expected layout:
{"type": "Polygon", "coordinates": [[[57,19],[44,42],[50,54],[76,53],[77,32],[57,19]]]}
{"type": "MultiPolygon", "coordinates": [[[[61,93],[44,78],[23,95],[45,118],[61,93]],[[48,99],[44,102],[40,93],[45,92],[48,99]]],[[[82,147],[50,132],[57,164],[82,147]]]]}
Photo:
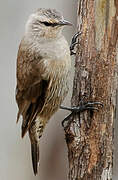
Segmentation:
{"type": "MultiPolygon", "coordinates": [[[[0,180],[67,180],[67,147],[61,121],[68,114],[59,110],[44,131],[40,145],[40,168],[32,171],[30,143],[21,138],[21,121],[16,125],[15,102],[16,57],[28,16],[39,7],[55,8],[75,27],[64,29],[70,43],[76,32],[77,0],[1,0],[0,5],[0,180]]],[[[64,104],[70,105],[74,59],[70,75],[70,92],[64,104]]],[[[118,123],[116,124],[116,131],[118,123]]],[[[118,176],[118,136],[115,136],[114,180],[118,176]]]]}

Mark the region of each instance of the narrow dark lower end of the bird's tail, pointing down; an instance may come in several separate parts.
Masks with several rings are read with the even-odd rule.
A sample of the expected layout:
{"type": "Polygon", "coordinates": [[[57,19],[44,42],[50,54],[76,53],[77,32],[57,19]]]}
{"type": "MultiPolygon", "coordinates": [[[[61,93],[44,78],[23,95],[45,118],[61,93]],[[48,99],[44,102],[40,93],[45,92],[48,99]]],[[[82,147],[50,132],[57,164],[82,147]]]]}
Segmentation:
{"type": "Polygon", "coordinates": [[[35,176],[38,173],[39,165],[39,145],[37,142],[31,144],[31,154],[32,154],[32,165],[35,176]]]}

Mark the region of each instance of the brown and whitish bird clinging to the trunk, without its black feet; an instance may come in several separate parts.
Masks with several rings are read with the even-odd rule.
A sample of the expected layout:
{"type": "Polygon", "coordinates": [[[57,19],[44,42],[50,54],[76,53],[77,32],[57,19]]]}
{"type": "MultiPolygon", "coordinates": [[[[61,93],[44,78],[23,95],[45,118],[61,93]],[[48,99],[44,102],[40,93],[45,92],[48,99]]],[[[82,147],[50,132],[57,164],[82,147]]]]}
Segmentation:
{"type": "Polygon", "coordinates": [[[28,132],[34,175],[38,173],[40,138],[69,91],[71,56],[64,26],[72,25],[55,9],[39,8],[25,26],[16,65],[17,122],[28,132]]]}

